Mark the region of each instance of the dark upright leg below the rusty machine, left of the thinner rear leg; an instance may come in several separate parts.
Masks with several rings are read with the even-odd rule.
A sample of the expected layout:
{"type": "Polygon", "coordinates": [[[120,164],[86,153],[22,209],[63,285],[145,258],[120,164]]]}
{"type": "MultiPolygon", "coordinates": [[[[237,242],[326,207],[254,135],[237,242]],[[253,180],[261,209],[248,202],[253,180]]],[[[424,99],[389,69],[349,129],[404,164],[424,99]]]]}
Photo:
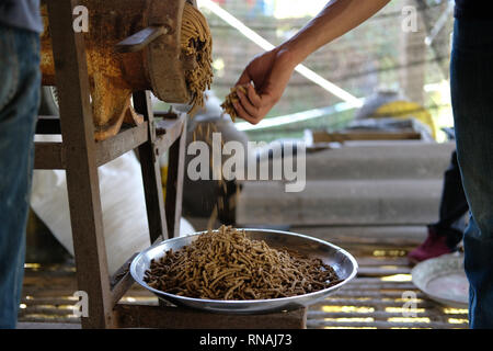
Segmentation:
{"type": "Polygon", "coordinates": [[[156,129],[152,115],[152,105],[149,92],[138,91],[134,93],[134,109],[144,115],[148,122],[148,140],[139,146],[140,169],[142,172],[144,194],[146,196],[147,218],[149,222],[150,241],[168,238],[168,228],[164,214],[164,199],[161,184],[161,168],[159,165],[159,150],[154,145],[156,129]]]}

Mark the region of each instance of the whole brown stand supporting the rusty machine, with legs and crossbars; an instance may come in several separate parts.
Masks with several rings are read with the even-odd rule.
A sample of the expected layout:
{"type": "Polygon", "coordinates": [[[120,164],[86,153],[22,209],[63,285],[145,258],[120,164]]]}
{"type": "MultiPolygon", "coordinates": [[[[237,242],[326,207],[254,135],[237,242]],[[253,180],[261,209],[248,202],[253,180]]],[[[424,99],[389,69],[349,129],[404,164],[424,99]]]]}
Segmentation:
{"type": "Polygon", "coordinates": [[[89,296],[83,328],[303,328],[306,308],[262,316],[215,315],[170,306],[125,305],[122,296],[134,283],[133,258],[113,275],[107,270],[98,167],[136,149],[141,165],[151,242],[180,233],[184,178],[186,114],[154,121],[150,94],[133,95],[145,122],[104,141],[94,140],[89,76],[82,33],[72,29],[77,0],[48,0],[60,126],[39,122],[38,131],[61,132],[61,143],[35,143],[36,169],[65,169],[77,265],[78,288],[89,296]],[[70,35],[69,33],[73,33],[70,35]],[[169,150],[165,203],[159,155],[169,150]]]}

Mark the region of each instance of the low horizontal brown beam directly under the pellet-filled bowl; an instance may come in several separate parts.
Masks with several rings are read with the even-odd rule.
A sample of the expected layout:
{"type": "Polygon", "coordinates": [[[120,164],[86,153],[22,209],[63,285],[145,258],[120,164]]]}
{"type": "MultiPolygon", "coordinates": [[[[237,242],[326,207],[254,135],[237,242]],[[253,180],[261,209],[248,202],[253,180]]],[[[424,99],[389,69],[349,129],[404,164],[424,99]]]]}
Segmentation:
{"type": "Polygon", "coordinates": [[[171,329],[302,329],[307,309],[265,315],[210,314],[195,309],[118,304],[115,319],[121,328],[171,329]]]}

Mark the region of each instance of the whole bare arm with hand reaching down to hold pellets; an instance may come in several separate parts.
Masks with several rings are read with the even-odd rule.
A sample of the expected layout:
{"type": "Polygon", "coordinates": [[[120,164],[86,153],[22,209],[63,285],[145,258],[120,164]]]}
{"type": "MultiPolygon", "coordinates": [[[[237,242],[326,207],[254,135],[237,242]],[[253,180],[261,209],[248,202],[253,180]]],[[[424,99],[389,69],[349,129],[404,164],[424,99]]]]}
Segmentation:
{"type": "Polygon", "coordinates": [[[257,124],[280,99],[296,66],[311,53],[358,26],[390,0],[333,0],[294,37],[271,52],[253,58],[239,84],[249,84],[246,94],[238,91],[233,103],[238,115],[257,124]],[[250,82],[253,81],[255,88],[250,82]]]}

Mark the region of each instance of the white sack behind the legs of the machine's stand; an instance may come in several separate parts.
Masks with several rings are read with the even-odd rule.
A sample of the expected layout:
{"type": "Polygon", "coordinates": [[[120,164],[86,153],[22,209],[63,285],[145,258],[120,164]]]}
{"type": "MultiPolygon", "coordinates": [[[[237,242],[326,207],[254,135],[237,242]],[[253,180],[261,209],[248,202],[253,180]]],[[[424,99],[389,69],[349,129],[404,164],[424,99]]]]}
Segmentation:
{"type": "MultiPolygon", "coordinates": [[[[54,141],[53,136],[36,136],[54,141]]],[[[101,205],[110,274],[135,252],[150,246],[140,165],[134,152],[99,168],[101,205]]],[[[73,254],[65,170],[35,170],[31,206],[60,244],[73,254]]],[[[182,218],[181,235],[195,231],[182,218]]]]}

